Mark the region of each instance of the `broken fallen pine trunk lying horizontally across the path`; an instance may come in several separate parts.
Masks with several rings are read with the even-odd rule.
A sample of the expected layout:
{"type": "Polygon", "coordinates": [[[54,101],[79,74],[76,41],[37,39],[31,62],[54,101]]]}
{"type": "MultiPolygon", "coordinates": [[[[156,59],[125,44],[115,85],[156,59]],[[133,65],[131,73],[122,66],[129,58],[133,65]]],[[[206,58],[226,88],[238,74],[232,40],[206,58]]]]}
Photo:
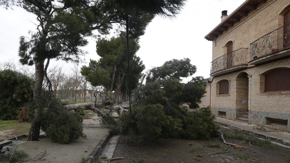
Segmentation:
{"type": "MultiPolygon", "coordinates": [[[[106,103],[106,102],[105,102],[106,103]]],[[[63,106],[66,110],[77,110],[77,109],[83,109],[83,110],[91,110],[97,113],[101,117],[105,117],[105,114],[102,113],[97,108],[104,108],[104,109],[111,109],[116,111],[116,113],[120,116],[124,111],[128,111],[127,108],[129,106],[116,106],[116,105],[105,105],[104,103],[96,103],[96,102],[86,102],[86,103],[79,103],[79,104],[70,104],[70,105],[64,105],[63,106]]]]}

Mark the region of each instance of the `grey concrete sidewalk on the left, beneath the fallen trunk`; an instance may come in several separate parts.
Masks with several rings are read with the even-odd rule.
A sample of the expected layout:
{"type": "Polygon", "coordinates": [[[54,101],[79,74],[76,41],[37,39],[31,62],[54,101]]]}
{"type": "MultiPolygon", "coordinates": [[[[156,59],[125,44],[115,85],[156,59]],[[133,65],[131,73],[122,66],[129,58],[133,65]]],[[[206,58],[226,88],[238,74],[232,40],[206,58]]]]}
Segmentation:
{"type": "Polygon", "coordinates": [[[46,149],[48,155],[44,157],[44,160],[37,162],[81,162],[82,157],[87,159],[109,132],[108,128],[94,128],[100,127],[97,118],[97,116],[94,116],[92,119],[84,119],[83,121],[83,132],[87,135],[88,140],[80,138],[73,140],[70,144],[60,144],[46,138],[40,142],[24,142],[18,148],[28,154],[27,158],[33,158],[46,149]]]}

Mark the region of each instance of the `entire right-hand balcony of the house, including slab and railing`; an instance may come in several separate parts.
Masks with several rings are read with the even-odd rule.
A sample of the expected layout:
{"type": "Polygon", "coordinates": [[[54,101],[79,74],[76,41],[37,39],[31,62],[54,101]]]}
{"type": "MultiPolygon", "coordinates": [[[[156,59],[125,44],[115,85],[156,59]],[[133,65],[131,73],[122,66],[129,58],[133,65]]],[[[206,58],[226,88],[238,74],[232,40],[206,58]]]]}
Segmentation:
{"type": "Polygon", "coordinates": [[[259,65],[290,56],[290,23],[250,44],[249,65],[259,65]]]}

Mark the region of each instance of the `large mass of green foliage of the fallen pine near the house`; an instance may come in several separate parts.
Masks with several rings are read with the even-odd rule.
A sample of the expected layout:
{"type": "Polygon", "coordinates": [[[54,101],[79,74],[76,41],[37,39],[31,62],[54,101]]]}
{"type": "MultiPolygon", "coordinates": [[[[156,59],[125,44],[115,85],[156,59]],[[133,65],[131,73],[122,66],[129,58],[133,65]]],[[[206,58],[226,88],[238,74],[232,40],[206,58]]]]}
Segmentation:
{"type": "Polygon", "coordinates": [[[214,136],[217,126],[209,107],[188,111],[182,106],[198,108],[206,93],[203,77],[193,77],[186,84],[181,82],[181,77],[189,77],[195,71],[188,58],[173,59],[148,70],[146,85],[134,92],[132,116],[129,112],[123,113],[111,128],[150,141],[159,137],[208,139],[214,136]]]}

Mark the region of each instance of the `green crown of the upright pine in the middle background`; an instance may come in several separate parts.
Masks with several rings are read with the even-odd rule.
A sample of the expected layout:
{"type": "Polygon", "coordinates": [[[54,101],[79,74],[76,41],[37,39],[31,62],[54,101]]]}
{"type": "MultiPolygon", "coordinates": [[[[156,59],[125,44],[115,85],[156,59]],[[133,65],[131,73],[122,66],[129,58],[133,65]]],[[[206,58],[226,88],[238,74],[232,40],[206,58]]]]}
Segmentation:
{"type": "MultiPolygon", "coordinates": [[[[125,73],[121,91],[126,91],[126,85],[128,83],[128,76],[126,73],[128,69],[126,38],[121,34],[111,39],[100,38],[96,43],[97,54],[101,58],[98,61],[90,60],[89,66],[83,66],[81,68],[81,74],[84,75],[93,86],[102,85],[108,90],[110,90],[113,80],[112,89],[115,90],[122,75],[125,73]]],[[[130,39],[129,50],[132,89],[137,88],[139,77],[145,69],[140,57],[136,56],[136,52],[139,48],[139,39],[130,39]]]]}

